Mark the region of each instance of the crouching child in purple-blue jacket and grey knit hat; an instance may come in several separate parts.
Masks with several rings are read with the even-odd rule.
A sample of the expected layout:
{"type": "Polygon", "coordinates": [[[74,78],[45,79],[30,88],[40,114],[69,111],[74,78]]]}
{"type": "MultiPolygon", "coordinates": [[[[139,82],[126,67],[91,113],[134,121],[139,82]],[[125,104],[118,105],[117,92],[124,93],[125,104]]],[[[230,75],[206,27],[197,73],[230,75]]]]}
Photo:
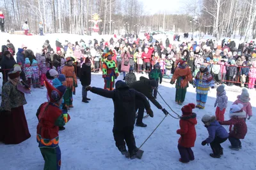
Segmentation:
{"type": "Polygon", "coordinates": [[[204,117],[202,117],[202,122],[209,133],[209,137],[202,141],[202,145],[205,146],[207,143],[210,143],[213,152],[210,153],[210,156],[213,158],[220,158],[221,155],[223,155],[223,148],[220,144],[227,141],[228,132],[219,124],[214,116],[204,115],[204,117]]]}

